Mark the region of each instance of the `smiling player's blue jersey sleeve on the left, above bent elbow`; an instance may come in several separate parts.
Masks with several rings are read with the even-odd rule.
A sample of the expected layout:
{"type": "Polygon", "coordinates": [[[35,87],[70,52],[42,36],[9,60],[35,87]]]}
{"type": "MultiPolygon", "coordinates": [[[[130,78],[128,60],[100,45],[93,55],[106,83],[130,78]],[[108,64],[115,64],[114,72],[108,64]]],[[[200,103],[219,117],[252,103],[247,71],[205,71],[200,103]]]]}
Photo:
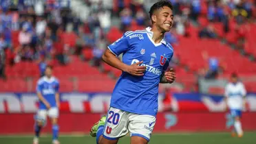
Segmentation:
{"type": "Polygon", "coordinates": [[[128,51],[129,49],[128,37],[123,35],[122,38],[116,40],[114,43],[109,45],[108,48],[116,56],[119,56],[121,53],[128,51]]]}

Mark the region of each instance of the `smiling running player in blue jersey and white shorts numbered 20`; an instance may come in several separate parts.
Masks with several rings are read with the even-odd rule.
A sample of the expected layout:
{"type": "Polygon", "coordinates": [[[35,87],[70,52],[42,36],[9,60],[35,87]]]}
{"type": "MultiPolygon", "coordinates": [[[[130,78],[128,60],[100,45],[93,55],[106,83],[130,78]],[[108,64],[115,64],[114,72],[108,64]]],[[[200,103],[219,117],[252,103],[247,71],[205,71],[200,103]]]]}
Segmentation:
{"type": "Polygon", "coordinates": [[[96,136],[96,143],[118,143],[128,132],[131,144],[148,143],[158,112],[158,85],[175,80],[174,71],[167,70],[173,47],[164,40],[164,33],[173,25],[173,5],[159,1],[149,14],[151,27],[126,32],[103,54],[103,61],[120,69],[122,75],[112,93],[107,117],[92,126],[90,134],[96,136]],[[122,61],[117,58],[120,53],[122,61]]]}

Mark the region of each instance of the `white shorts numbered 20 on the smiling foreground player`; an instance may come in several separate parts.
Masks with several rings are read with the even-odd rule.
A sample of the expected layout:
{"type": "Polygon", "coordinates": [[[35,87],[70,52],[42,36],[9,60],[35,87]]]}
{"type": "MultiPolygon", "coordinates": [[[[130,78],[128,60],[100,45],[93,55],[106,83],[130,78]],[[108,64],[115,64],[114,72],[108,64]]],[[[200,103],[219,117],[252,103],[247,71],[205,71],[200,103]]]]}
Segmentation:
{"type": "Polygon", "coordinates": [[[137,115],[118,108],[109,108],[103,137],[116,140],[130,132],[130,136],[140,136],[147,141],[151,137],[156,117],[137,115]]]}

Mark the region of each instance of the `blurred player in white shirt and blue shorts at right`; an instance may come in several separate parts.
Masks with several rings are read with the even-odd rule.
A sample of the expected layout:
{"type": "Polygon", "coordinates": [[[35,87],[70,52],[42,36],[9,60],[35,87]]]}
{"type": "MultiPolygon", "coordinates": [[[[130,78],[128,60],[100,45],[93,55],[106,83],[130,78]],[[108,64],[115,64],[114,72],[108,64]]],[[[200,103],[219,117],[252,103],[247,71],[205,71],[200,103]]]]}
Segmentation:
{"type": "Polygon", "coordinates": [[[237,136],[242,137],[243,130],[240,118],[242,117],[243,106],[246,104],[246,89],[242,82],[238,82],[236,73],[231,75],[231,82],[226,85],[225,97],[227,109],[230,110],[234,119],[234,130],[232,131],[232,136],[235,136],[235,132],[237,132],[237,136]]]}

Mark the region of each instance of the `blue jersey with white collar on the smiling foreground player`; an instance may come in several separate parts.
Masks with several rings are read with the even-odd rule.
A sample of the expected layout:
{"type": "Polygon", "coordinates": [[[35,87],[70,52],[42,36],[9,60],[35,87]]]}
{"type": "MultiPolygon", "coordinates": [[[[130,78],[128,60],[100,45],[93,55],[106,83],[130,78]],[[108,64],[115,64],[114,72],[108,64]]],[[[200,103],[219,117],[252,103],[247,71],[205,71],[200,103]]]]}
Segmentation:
{"type": "Polygon", "coordinates": [[[158,112],[158,84],[160,75],[167,70],[173,56],[173,47],[164,39],[154,43],[153,32],[145,30],[126,32],[122,38],[109,45],[116,56],[122,53],[122,62],[134,64],[143,60],[143,76],[126,72],[120,75],[111,97],[110,106],[140,115],[156,116],[158,112]]]}

